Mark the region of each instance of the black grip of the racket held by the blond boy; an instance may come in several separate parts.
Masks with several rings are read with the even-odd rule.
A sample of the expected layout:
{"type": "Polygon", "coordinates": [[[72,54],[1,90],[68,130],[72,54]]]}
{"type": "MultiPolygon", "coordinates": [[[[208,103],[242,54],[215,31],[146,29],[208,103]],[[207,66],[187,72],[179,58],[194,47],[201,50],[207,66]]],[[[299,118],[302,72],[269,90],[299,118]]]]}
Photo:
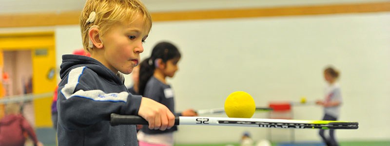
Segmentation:
{"type": "MultiPolygon", "coordinates": [[[[111,113],[111,126],[117,125],[149,125],[144,118],[136,115],[120,115],[111,113]]],[[[179,125],[179,117],[175,117],[175,125],[179,125]]]]}

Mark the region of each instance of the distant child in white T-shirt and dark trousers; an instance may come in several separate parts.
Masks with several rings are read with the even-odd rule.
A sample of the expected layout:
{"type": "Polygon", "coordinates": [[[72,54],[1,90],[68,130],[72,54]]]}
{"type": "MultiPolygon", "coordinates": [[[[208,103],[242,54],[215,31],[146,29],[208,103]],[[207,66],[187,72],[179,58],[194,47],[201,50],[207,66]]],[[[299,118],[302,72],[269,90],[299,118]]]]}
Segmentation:
{"type": "MultiPolygon", "coordinates": [[[[325,115],[322,120],[336,121],[340,115],[342,96],[340,86],[336,82],[339,74],[340,73],[332,67],[328,67],[324,70],[324,78],[329,86],[325,89],[325,100],[316,101],[317,105],[324,107],[325,115]]],[[[334,137],[334,129],[329,130],[329,137],[325,136],[324,132],[324,129],[320,129],[319,135],[327,146],[339,146],[334,137]]]]}

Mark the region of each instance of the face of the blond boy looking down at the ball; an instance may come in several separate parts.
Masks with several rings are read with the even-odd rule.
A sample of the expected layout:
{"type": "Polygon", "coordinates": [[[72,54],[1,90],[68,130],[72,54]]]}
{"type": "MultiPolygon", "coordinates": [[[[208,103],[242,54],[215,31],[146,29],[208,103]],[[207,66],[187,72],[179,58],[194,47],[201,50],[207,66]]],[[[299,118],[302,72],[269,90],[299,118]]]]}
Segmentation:
{"type": "Polygon", "coordinates": [[[115,24],[101,37],[103,56],[99,61],[114,73],[129,74],[140,62],[143,52],[142,43],[148,37],[149,30],[144,27],[139,15],[132,23],[115,24]]]}

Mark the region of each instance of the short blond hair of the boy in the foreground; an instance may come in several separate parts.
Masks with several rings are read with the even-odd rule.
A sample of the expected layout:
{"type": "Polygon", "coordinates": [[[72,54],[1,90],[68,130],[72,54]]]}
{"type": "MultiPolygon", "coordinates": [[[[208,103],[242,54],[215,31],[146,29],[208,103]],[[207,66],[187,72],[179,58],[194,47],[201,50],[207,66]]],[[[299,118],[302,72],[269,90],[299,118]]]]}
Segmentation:
{"type": "Polygon", "coordinates": [[[141,15],[144,21],[144,27],[149,33],[152,28],[152,17],[145,5],[140,0],[87,0],[80,16],[80,28],[82,43],[85,52],[91,53],[92,49],[88,47],[89,28],[93,25],[99,27],[99,36],[103,36],[110,26],[132,21],[141,15]],[[96,18],[92,23],[87,23],[89,15],[95,12],[96,18]]]}

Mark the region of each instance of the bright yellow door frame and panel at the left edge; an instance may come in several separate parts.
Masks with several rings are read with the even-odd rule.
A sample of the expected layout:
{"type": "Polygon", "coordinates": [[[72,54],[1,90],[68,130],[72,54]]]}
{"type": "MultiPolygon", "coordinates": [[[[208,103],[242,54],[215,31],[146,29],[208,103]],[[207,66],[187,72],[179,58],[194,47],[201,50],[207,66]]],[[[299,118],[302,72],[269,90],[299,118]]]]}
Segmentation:
{"type": "MultiPolygon", "coordinates": [[[[0,52],[20,50],[31,50],[33,93],[53,92],[57,86],[54,32],[0,34],[0,52]]],[[[51,103],[51,97],[34,99],[36,128],[52,127],[51,103]]]]}

